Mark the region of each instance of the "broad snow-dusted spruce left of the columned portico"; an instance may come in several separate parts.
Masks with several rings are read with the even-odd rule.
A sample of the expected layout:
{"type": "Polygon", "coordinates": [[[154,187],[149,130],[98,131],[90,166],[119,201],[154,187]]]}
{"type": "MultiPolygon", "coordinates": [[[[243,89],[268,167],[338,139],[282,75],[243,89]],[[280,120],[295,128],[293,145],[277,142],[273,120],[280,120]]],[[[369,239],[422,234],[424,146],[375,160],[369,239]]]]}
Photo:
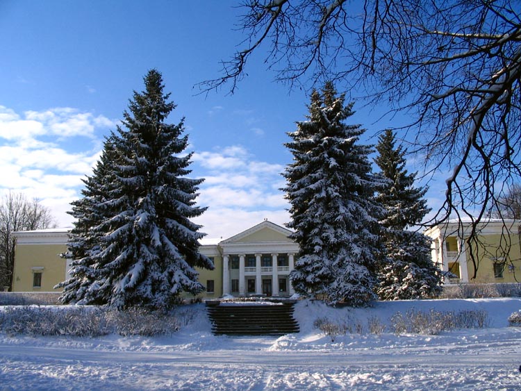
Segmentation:
{"type": "Polygon", "coordinates": [[[165,308],[181,292],[204,290],[195,267],[213,269],[199,253],[200,226],[190,221],[202,179],[191,179],[191,153],[183,121],[167,124],[174,110],[161,74],[144,77],[124,127],[106,142],[84,199],[73,205],[75,223],[67,256],[71,278],[61,284],[65,302],[113,308],[165,308]]]}

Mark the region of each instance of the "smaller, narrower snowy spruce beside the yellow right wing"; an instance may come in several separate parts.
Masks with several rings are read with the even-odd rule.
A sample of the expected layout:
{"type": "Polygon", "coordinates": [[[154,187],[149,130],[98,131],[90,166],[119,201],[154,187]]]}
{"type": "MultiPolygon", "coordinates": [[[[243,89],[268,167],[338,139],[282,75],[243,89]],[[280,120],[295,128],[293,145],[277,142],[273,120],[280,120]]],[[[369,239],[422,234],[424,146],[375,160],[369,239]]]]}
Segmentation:
{"type": "Polygon", "coordinates": [[[380,299],[420,299],[440,293],[440,270],[431,260],[431,242],[420,232],[408,231],[429,213],[423,198],[427,188],[415,188],[416,173],[405,169],[406,151],[396,147],[395,133],[384,131],[374,159],[380,175],[388,180],[377,194],[386,208],[382,220],[386,258],[379,267],[377,293],[380,299]]]}

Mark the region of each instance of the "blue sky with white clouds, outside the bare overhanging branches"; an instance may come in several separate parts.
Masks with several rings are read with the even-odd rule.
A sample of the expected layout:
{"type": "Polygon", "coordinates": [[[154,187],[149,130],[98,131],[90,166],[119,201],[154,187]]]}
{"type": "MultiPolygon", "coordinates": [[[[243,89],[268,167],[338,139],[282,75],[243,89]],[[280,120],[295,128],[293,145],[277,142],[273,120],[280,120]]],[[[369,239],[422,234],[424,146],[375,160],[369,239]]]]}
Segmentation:
{"type": "MultiPolygon", "coordinates": [[[[197,222],[207,240],[265,218],[288,222],[279,188],[291,155],[283,142],[305,119],[307,92],[272,81],[262,52],[235,94],[194,87],[220,76],[220,60],[245,38],[236,28],[238,3],[0,0],[0,192],[38,197],[59,226],[70,226],[65,212],[80,197],[81,178],[156,68],[178,105],[169,122],[185,117],[192,176],[206,178],[199,204],[209,208],[197,222]]],[[[357,102],[354,109],[350,123],[367,129],[363,142],[376,143],[377,131],[396,125],[377,121],[386,108],[357,102]]],[[[432,207],[441,189],[431,183],[432,207]]]]}

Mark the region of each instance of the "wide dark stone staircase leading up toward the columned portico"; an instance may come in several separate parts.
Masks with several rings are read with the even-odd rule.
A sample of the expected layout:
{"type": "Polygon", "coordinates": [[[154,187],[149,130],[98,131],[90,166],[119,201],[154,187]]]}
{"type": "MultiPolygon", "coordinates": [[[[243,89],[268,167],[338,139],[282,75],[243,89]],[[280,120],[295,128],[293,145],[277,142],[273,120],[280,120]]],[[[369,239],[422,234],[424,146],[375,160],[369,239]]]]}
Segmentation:
{"type": "Polygon", "coordinates": [[[295,301],[207,301],[215,335],[284,335],[298,333],[293,317],[295,301]]]}

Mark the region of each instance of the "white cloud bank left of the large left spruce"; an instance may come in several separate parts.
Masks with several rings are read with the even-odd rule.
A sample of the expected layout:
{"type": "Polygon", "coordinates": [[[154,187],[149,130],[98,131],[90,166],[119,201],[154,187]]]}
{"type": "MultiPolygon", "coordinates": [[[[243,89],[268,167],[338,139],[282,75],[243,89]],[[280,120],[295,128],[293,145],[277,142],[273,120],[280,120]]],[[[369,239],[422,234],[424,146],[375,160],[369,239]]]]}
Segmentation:
{"type": "Polygon", "coordinates": [[[103,115],[74,108],[19,114],[0,106],[0,192],[38,198],[60,226],[69,226],[72,217],[65,212],[99,158],[102,135],[113,127],[103,115]]]}

